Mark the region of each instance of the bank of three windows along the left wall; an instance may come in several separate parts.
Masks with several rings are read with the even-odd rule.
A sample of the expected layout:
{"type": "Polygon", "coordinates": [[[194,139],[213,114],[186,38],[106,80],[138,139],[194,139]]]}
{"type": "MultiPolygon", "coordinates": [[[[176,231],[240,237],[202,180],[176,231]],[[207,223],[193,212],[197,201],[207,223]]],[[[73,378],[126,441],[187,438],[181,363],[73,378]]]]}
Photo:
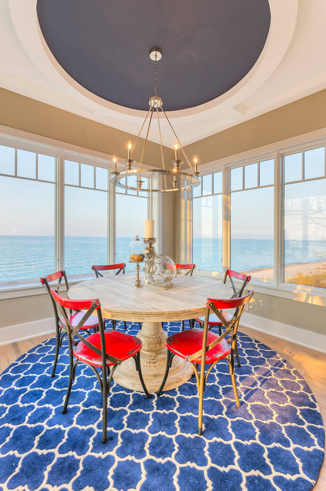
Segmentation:
{"type": "Polygon", "coordinates": [[[39,286],[41,276],[61,269],[92,278],[93,264],[123,261],[132,268],[128,245],[143,237],[151,200],[144,191],[118,188],[112,205],[108,164],[0,135],[1,289],[39,286]]]}

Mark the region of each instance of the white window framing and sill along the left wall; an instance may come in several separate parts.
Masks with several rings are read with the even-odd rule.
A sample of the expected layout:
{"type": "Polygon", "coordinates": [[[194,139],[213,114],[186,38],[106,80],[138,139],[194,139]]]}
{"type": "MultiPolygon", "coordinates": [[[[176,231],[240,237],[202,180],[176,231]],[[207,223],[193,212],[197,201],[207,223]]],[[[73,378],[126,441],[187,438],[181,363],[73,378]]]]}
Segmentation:
{"type": "MultiPolygon", "coordinates": [[[[0,145],[8,146],[15,149],[15,175],[2,174],[0,176],[49,182],[55,186],[55,230],[54,230],[54,271],[64,269],[64,188],[65,186],[82,187],[85,189],[94,189],[101,192],[108,193],[108,264],[115,262],[116,253],[116,187],[112,185],[111,171],[113,170],[112,157],[106,154],[100,154],[99,152],[91,152],[88,149],[77,147],[75,145],[65,144],[64,142],[58,142],[49,138],[39,137],[32,133],[27,133],[20,130],[14,130],[12,128],[2,127],[1,130],[7,130],[6,133],[0,133],[0,145]],[[45,141],[44,141],[45,140],[45,141]],[[55,158],[55,180],[44,181],[30,177],[17,176],[17,150],[26,150],[35,152],[36,154],[48,155],[55,158]],[[86,186],[76,186],[72,184],[65,184],[64,175],[64,162],[65,160],[71,160],[79,162],[79,169],[81,170],[81,164],[89,164],[95,167],[102,167],[108,170],[108,190],[102,190],[96,188],[95,172],[94,172],[94,187],[89,188],[86,186]]],[[[37,170],[37,167],[36,167],[37,170]]],[[[81,172],[79,182],[81,184],[81,172]]],[[[122,193],[124,194],[124,193],[122,193]]],[[[138,193],[137,193],[138,194],[138,193]]],[[[138,197],[138,196],[137,196],[138,197]]],[[[141,197],[141,196],[140,196],[141,197]]],[[[147,213],[148,218],[154,218],[157,221],[158,231],[162,228],[162,220],[159,216],[159,202],[153,200],[149,194],[148,197],[141,197],[147,199],[147,213]]],[[[159,235],[159,234],[158,234],[159,235]]],[[[69,284],[74,285],[82,280],[93,278],[93,273],[90,271],[85,274],[70,275],[69,284]]],[[[39,279],[34,280],[14,280],[9,282],[0,282],[0,299],[17,298],[22,296],[36,295],[46,293],[43,286],[41,286],[39,279]]]]}

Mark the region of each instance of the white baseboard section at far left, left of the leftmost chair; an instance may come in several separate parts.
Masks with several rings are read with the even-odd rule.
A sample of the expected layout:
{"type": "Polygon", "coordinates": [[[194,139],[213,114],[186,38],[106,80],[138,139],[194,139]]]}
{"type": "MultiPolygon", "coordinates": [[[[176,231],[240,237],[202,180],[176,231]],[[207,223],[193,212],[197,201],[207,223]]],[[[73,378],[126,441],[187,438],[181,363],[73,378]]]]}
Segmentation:
{"type": "Polygon", "coordinates": [[[54,323],[54,317],[52,317],[51,319],[27,322],[26,324],[18,324],[17,326],[2,327],[0,329],[0,346],[55,332],[54,323]]]}

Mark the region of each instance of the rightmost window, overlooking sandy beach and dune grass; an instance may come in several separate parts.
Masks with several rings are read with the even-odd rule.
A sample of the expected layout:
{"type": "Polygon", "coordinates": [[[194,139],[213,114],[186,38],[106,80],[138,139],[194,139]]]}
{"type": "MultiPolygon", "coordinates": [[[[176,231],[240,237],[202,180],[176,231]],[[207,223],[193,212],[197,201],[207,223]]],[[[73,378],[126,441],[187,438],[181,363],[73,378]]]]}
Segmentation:
{"type": "Polygon", "coordinates": [[[286,155],[284,279],[326,288],[325,147],[286,155]]]}

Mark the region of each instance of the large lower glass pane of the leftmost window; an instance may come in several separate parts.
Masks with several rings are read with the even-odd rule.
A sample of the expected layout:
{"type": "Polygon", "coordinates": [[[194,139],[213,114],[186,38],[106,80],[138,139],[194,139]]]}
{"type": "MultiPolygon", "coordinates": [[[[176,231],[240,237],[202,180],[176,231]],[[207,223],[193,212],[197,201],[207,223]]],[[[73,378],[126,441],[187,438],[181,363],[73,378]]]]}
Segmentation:
{"type": "Polygon", "coordinates": [[[53,273],[54,188],[47,182],[0,177],[0,282],[53,273]]]}

